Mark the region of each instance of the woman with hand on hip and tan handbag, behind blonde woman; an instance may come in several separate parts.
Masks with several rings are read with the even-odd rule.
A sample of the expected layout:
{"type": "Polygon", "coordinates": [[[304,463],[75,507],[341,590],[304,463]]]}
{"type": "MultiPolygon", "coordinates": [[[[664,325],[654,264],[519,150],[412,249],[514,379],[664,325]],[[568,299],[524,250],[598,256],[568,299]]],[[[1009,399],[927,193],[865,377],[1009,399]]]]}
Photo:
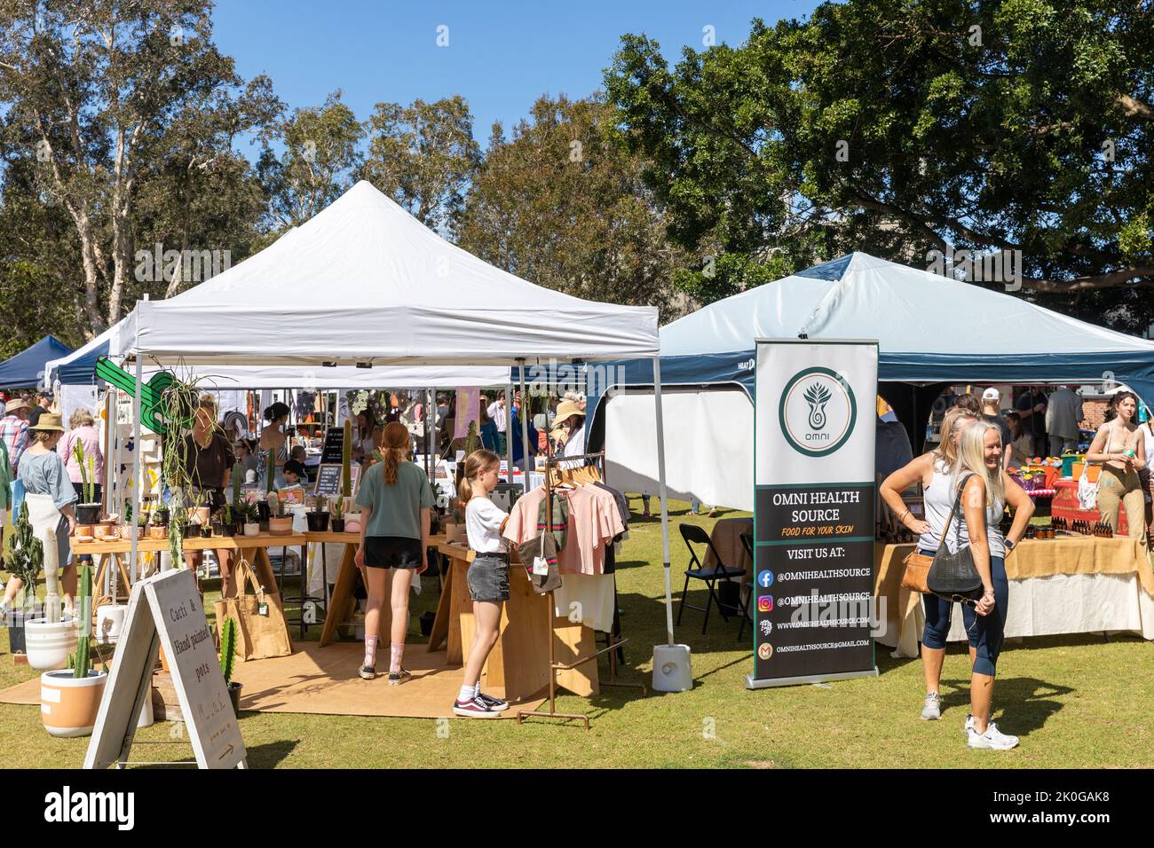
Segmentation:
{"type": "MultiPolygon", "coordinates": [[[[887,476],[878,494],[886,505],[898,517],[907,530],[917,533],[917,553],[934,556],[942,536],[947,532],[946,518],[953,506],[953,493],[950,490],[950,479],[958,461],[958,446],[961,433],[973,425],[977,418],[964,406],[954,406],[946,411],[942,419],[942,441],[938,446],[916,457],[904,468],[898,468],[887,476]],[[922,485],[922,513],[926,519],[919,519],[901,500],[901,493],[916,483],[922,485]]],[[[926,628],[922,631],[922,671],[926,676],[926,700],[922,704],[922,718],[927,721],[942,718],[942,696],[938,686],[942,680],[942,665],[945,661],[945,639],[950,633],[950,616],[953,603],[935,594],[923,594],[922,606],[926,611],[926,628]]],[[[975,654],[975,645],[969,646],[971,661],[975,654]]]]}

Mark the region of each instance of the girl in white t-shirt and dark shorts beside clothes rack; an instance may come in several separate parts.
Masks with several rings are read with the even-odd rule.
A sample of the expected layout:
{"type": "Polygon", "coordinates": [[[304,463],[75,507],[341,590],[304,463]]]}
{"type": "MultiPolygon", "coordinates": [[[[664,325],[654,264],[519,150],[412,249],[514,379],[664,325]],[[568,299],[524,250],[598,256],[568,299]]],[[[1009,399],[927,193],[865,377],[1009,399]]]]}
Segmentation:
{"type": "Polygon", "coordinates": [[[501,458],[487,450],[474,450],[465,459],[460,501],[465,504],[465,530],[474,557],[469,566],[469,593],[473,598],[473,645],[465,661],[465,682],[460,686],[455,715],[469,719],[495,719],[509,705],[481,693],[481,668],[497,641],[501,607],[509,600],[509,555],[501,538],[509,515],[489,500],[496,488],[501,458]]]}

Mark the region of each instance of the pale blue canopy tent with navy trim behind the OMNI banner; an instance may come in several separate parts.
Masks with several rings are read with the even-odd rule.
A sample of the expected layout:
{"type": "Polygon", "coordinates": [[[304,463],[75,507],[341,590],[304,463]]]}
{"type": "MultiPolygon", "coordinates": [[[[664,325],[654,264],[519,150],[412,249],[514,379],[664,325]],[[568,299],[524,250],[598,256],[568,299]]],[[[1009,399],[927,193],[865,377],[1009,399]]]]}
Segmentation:
{"type": "MultiPolygon", "coordinates": [[[[754,339],[799,337],[878,339],[878,393],[906,425],[915,450],[923,442],[934,400],[950,384],[1115,381],[1129,385],[1147,405],[1154,403],[1154,342],[1095,327],[1004,292],[854,253],[711,303],[661,328],[667,453],[691,456],[691,442],[700,445],[703,440],[702,414],[685,420],[692,418],[694,407],[668,408],[670,399],[676,403],[677,387],[739,390],[748,398],[751,433],[754,339]],[[679,451],[679,440],[687,441],[684,450],[679,451]]],[[[653,382],[650,360],[608,365],[619,366],[621,378],[615,385],[627,395],[644,391],[653,382]]],[[[632,468],[637,479],[645,480],[653,446],[643,443],[644,422],[607,430],[605,391],[590,382],[590,445],[604,443],[610,470],[619,467],[619,479],[621,468],[632,468]]],[[[737,423],[730,420],[726,426],[737,423]]],[[[751,437],[748,455],[729,456],[727,468],[715,468],[718,461],[681,463],[692,467],[682,468],[679,486],[677,463],[670,458],[670,491],[695,495],[705,503],[749,508],[751,478],[745,494],[744,481],[735,473],[742,463],[751,474],[751,437]],[[710,475],[710,485],[691,482],[710,475]],[[719,482],[722,476],[728,483],[719,482]],[[720,500],[719,490],[737,494],[720,500]]],[[[640,487],[629,473],[622,482],[640,487]]]]}

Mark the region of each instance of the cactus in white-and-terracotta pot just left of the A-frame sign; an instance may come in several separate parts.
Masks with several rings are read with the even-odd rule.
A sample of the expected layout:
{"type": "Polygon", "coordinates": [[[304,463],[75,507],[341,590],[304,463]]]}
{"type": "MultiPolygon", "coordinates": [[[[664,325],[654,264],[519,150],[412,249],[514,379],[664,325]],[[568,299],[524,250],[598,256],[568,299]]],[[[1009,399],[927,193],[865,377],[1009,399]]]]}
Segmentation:
{"type": "MultiPolygon", "coordinates": [[[[76,653],[69,656],[68,668],[40,675],[40,718],[44,729],[53,736],[88,736],[100,708],[107,671],[91,667],[90,638],[92,635],[92,566],[82,565],[80,572],[80,607],[76,616],[76,653]]],[[[72,624],[72,622],[69,622],[72,624]]]]}

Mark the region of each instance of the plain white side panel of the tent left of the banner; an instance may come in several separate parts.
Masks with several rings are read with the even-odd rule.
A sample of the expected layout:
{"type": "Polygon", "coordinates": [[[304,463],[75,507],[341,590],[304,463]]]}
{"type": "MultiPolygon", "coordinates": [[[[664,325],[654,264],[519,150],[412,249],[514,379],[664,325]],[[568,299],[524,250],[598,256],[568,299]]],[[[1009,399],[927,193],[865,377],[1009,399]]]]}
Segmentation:
{"type": "MultiPolygon", "coordinates": [[[[754,404],[739,388],[662,389],[669,497],[754,510],[754,404]]],[[[657,495],[652,390],[630,390],[605,407],[609,483],[657,495]]]]}

